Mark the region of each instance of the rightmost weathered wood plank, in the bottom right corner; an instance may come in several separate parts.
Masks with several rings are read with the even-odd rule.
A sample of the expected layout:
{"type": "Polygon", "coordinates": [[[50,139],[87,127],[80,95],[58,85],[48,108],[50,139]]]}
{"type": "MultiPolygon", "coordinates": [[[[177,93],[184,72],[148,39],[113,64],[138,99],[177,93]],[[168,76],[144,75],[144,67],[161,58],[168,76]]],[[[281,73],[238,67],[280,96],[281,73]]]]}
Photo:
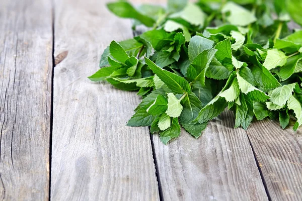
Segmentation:
{"type": "Polygon", "coordinates": [[[301,200],[302,130],[276,121],[255,122],[247,131],[272,200],[301,200]]]}

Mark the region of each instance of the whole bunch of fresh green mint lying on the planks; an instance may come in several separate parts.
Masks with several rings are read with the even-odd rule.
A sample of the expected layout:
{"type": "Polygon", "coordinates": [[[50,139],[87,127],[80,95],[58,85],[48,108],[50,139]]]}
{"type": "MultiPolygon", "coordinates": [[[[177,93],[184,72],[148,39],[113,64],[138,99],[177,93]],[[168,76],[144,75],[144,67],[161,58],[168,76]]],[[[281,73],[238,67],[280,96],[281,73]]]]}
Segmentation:
{"type": "Polygon", "coordinates": [[[302,124],[300,0],[172,1],[167,9],[125,1],[108,9],[149,31],[104,51],[92,81],[138,90],[142,102],[128,126],[149,126],[167,144],[180,125],[198,138],[225,108],[235,127],[253,120],[290,118],[302,124]],[[299,26],[297,26],[299,27],[299,26]]]}

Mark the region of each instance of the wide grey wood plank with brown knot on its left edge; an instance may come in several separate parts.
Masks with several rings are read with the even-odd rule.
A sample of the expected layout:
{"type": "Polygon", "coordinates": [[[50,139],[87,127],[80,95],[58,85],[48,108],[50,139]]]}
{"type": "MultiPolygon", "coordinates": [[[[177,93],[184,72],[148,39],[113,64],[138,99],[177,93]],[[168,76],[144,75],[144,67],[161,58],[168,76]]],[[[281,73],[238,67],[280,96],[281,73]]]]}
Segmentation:
{"type": "Polygon", "coordinates": [[[111,40],[132,37],[129,20],[106,1],[55,1],[52,200],[158,200],[148,128],[125,124],[140,102],[135,92],[92,83],[111,40]]]}

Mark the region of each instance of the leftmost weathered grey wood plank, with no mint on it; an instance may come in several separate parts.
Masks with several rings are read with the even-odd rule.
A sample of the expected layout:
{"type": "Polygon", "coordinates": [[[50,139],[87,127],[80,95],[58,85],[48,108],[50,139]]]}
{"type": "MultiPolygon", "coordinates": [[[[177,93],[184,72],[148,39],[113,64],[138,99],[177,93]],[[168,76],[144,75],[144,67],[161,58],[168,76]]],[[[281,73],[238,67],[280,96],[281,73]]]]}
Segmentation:
{"type": "Polygon", "coordinates": [[[48,200],[51,1],[0,1],[0,199],[48,200]]]}

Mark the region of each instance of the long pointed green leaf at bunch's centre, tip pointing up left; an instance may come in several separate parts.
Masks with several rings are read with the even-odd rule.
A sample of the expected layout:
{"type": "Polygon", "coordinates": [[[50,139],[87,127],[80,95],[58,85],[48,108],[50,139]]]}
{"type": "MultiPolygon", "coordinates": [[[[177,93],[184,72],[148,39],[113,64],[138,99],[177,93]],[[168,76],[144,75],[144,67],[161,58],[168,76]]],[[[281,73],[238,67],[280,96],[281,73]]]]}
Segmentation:
{"type": "Polygon", "coordinates": [[[167,86],[175,93],[190,92],[190,85],[183,77],[172,72],[164,70],[145,57],[145,62],[149,68],[167,84],[167,86]]]}

